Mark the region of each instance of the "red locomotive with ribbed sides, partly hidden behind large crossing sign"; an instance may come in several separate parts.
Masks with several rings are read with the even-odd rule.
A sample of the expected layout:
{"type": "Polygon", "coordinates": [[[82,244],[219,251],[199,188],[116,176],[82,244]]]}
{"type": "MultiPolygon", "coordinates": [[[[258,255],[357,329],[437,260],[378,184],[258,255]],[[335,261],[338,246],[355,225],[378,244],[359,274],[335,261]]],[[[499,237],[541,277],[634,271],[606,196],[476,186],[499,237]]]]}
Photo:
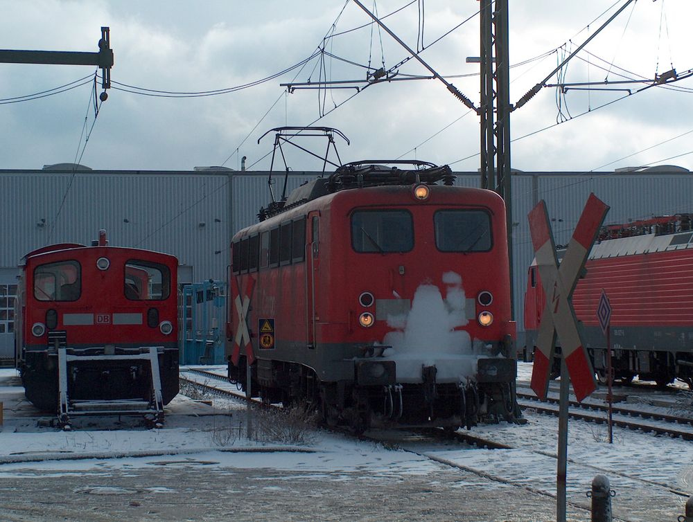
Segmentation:
{"type": "MultiPolygon", "coordinates": [[[[583,342],[600,381],[606,382],[606,339],[597,305],[602,289],[611,303],[614,377],[656,381],[675,378],[693,386],[692,215],[656,217],[602,228],[573,294],[583,342]]],[[[559,250],[561,258],[563,251],[559,250]]],[[[525,294],[525,349],[536,342],[545,294],[536,260],[525,294]]],[[[554,361],[554,372],[558,366],[554,361]]]]}

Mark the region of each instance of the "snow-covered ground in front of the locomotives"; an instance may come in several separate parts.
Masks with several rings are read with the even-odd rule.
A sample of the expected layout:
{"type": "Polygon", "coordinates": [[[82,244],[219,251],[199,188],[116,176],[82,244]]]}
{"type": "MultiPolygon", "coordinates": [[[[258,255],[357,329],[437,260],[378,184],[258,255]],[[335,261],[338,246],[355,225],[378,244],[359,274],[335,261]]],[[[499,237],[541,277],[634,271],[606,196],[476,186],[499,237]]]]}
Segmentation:
{"type": "MultiPolygon", "coordinates": [[[[520,379],[529,380],[530,372],[531,365],[520,363],[520,379]]],[[[64,479],[69,484],[70,498],[87,490],[92,495],[109,495],[117,493],[108,489],[109,480],[128,480],[123,477],[144,476],[157,469],[159,475],[155,476],[168,477],[156,486],[164,488],[157,490],[159,496],[167,492],[184,495],[179,487],[179,481],[184,480],[181,477],[204,465],[209,477],[251,474],[260,480],[264,474],[267,482],[277,488],[277,502],[292,487],[299,488],[298,482],[280,480],[279,476],[286,478],[288,474],[330,484],[337,495],[331,502],[351,506],[351,516],[347,513],[342,518],[334,512],[334,518],[327,517],[335,520],[367,518],[356,511],[360,504],[349,500],[350,490],[340,489],[344,480],[359,484],[358,481],[369,480],[369,487],[390,492],[388,498],[399,492],[401,498],[389,498],[401,510],[393,511],[397,514],[391,517],[398,520],[539,521],[550,520],[554,509],[551,496],[556,490],[558,421],[532,411],[525,413],[524,425],[501,422],[473,429],[472,433],[517,448],[511,450],[459,447],[453,442],[416,438],[390,438],[394,444],[376,444],[322,431],[317,431],[309,444],[295,447],[247,440],[243,427],[245,406],[227,399],[213,398],[212,404],[206,404],[179,395],[168,406],[164,429],[145,429],[136,419],[125,420],[119,426],[85,419],[76,423],[78,429],[71,432],[48,426],[49,417],[37,420],[37,413],[23,398],[15,370],[0,370],[0,401],[4,403],[5,417],[0,429],[0,490],[8,483],[15,488],[32,485],[29,489],[40,494],[41,488],[35,485],[40,477],[44,482],[64,479]],[[104,429],[105,426],[119,429],[104,429]],[[76,476],[82,477],[83,482],[75,482],[76,476]],[[429,496],[444,492],[445,498],[450,498],[450,506],[464,500],[462,507],[466,505],[468,509],[405,509],[403,506],[422,488],[430,489],[429,496]]],[[[691,449],[690,442],[623,430],[616,430],[614,444],[607,444],[604,425],[571,421],[569,519],[589,519],[588,512],[578,506],[589,505],[586,492],[591,480],[604,474],[616,492],[614,512],[620,519],[676,520],[684,512],[685,495],[693,494],[691,449]]],[[[127,487],[121,489],[129,491],[127,487]]],[[[2,495],[0,519],[9,519],[3,516],[3,508],[10,508],[3,505],[1,498],[2,495]]],[[[297,516],[287,519],[314,519],[317,515],[310,502],[316,500],[306,501],[303,518],[298,507],[297,516]]],[[[417,502],[424,505],[427,501],[417,502]]],[[[369,513],[383,513],[378,511],[382,509],[385,507],[372,507],[369,513]]],[[[189,519],[190,511],[187,513],[189,519]]],[[[199,519],[204,519],[205,513],[209,515],[207,519],[216,519],[209,514],[212,511],[200,512],[199,519]]],[[[177,519],[161,513],[150,518],[161,520],[170,516],[177,519]]],[[[182,512],[181,517],[184,518],[182,512]]],[[[374,515],[369,519],[383,517],[374,515]]]]}

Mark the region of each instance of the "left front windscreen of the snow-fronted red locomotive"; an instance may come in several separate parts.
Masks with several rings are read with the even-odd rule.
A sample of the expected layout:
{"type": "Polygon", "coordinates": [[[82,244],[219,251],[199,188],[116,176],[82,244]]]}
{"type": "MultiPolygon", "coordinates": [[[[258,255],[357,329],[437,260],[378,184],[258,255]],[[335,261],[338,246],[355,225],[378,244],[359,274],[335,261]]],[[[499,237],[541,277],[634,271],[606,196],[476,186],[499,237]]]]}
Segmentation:
{"type": "Polygon", "coordinates": [[[351,245],[357,252],[408,252],[414,222],[407,210],[357,210],[351,215],[351,245]]]}

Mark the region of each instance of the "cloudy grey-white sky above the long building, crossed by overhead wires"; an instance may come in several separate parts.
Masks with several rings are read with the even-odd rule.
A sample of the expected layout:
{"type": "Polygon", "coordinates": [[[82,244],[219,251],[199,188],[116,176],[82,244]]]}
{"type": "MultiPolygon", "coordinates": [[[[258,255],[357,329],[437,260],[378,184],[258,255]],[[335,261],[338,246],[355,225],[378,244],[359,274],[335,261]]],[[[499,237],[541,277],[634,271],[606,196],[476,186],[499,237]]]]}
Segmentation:
{"type": "MultiPolygon", "coordinates": [[[[624,1],[510,1],[511,64],[565,43],[565,51],[574,49],[624,1]],[[611,6],[606,16],[597,19],[611,6]]],[[[366,3],[373,7],[372,1],[366,3]]],[[[408,0],[381,0],[378,13],[383,16],[406,3],[408,0]]],[[[5,0],[0,1],[0,48],[96,51],[100,26],[109,26],[115,82],[164,91],[209,91],[254,82],[306,59],[322,44],[345,4],[336,33],[367,23],[367,16],[355,3],[5,0]]],[[[415,1],[389,17],[388,26],[412,48],[419,39],[419,4],[425,8],[425,46],[472,17],[479,6],[477,0],[415,1]]],[[[693,6],[687,0],[634,2],[588,45],[592,55],[580,55],[590,63],[571,62],[565,80],[622,80],[616,66],[629,71],[626,74],[631,78],[653,78],[672,65],[684,73],[693,68],[693,47],[688,39],[691,19],[693,6]],[[611,62],[615,66],[608,71],[611,62]]],[[[473,75],[478,66],[466,64],[465,59],[479,54],[478,25],[478,17],[472,17],[421,56],[444,75],[473,75]]],[[[325,48],[358,64],[368,64],[370,54],[375,67],[382,66],[383,59],[386,68],[392,67],[407,56],[385,33],[374,30],[371,39],[370,26],[328,39],[325,48]]],[[[543,80],[558,59],[559,53],[552,53],[511,69],[511,102],[543,80]]],[[[188,170],[226,162],[226,166],[238,168],[240,157],[247,156],[249,168],[267,169],[269,158],[261,158],[271,152],[272,137],[267,136],[260,145],[258,138],[272,127],[313,122],[321,106],[318,91],[283,95],[279,84],[294,78],[297,82],[318,80],[318,63],[313,60],[300,73],[296,69],[257,87],[220,96],[155,98],[111,89],[81,163],[98,169],[188,170]]],[[[399,71],[400,77],[427,74],[414,60],[399,71]]],[[[44,91],[93,73],[87,66],[0,64],[0,98],[44,91]]],[[[361,79],[365,69],[326,58],[323,78],[325,75],[332,80],[361,79]]],[[[554,77],[550,82],[557,80],[554,77]]],[[[450,81],[478,105],[477,76],[450,81]]],[[[624,88],[637,89],[638,84],[624,88]]],[[[648,89],[599,109],[626,93],[569,91],[563,114],[569,112],[574,119],[516,141],[512,165],[520,170],[588,171],[673,163],[693,169],[693,154],[670,159],[693,151],[693,133],[653,147],[693,129],[689,123],[693,91],[687,89],[693,89],[693,80],[648,89]],[[653,148],[645,151],[649,147],[653,148]],[[636,152],[640,154],[617,161],[636,152]]],[[[329,110],[355,92],[328,91],[322,103],[329,110]]],[[[80,134],[85,115],[87,129],[94,120],[94,111],[88,109],[90,93],[85,85],[40,100],[0,105],[0,167],[40,168],[46,163],[74,161],[80,143],[83,145],[80,134]]],[[[392,82],[368,87],[315,125],[336,127],[349,137],[351,146],[337,143],[342,161],[404,154],[453,163],[455,170],[476,170],[478,118],[466,113],[468,109],[440,82],[392,82]],[[426,141],[446,125],[450,127],[426,141]]],[[[556,89],[542,89],[512,114],[513,138],[554,125],[557,113],[556,89]]],[[[324,143],[313,143],[317,150],[324,149],[324,143]]],[[[319,168],[297,155],[290,158],[290,166],[295,170],[319,168]]]]}

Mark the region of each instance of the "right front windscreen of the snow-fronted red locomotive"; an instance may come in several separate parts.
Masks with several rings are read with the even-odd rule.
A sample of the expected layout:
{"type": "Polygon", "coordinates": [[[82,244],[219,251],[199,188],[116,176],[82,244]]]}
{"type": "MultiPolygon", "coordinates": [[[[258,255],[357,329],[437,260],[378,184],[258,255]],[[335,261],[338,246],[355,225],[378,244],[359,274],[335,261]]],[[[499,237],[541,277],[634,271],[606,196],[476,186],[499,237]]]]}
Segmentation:
{"type": "Polygon", "coordinates": [[[491,250],[491,216],[484,210],[438,210],[433,222],[435,244],[441,252],[491,250]]]}

